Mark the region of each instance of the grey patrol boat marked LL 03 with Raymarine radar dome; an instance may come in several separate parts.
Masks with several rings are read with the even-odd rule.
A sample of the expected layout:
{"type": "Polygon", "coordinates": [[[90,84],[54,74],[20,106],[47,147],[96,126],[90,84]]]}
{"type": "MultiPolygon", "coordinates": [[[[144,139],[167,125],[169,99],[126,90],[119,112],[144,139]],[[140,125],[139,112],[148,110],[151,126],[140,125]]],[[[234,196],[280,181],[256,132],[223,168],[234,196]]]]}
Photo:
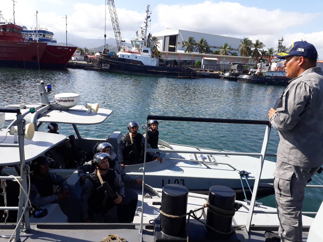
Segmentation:
{"type": "MultiPolygon", "coordinates": [[[[66,97],[55,95],[55,101],[49,101],[48,95],[51,94],[51,87],[47,88],[44,83],[37,84],[41,104],[28,104],[32,107],[32,112],[22,106],[21,112],[28,123],[33,123],[35,129],[48,123],[64,123],[70,124],[71,131],[74,129],[75,135],[70,136],[70,142],[73,146],[74,153],[78,150],[87,152],[88,159],[93,157],[92,148],[97,142],[105,142],[104,139],[84,138],[81,136],[78,125],[94,125],[100,124],[106,120],[111,114],[111,110],[106,108],[98,108],[97,113],[88,112],[86,106],[77,105],[79,95],[73,94],[66,97]],[[50,91],[48,91],[50,90],[50,91]],[[70,102],[71,101],[71,102],[70,102]],[[63,106],[64,105],[64,106],[63,106]],[[76,138],[75,138],[76,137],[76,138]]],[[[6,107],[19,108],[20,105],[9,105],[6,107]]],[[[154,119],[173,120],[173,121],[197,121],[197,122],[222,122],[236,124],[257,124],[266,126],[266,132],[270,129],[268,121],[258,120],[230,120],[230,119],[209,119],[209,118],[192,118],[192,117],[164,117],[156,116],[154,119]]],[[[6,120],[11,121],[9,128],[15,124],[15,117],[6,115],[6,120]]],[[[145,127],[144,127],[145,129],[145,127]]],[[[267,134],[267,133],[266,133],[267,134]]],[[[265,134],[264,142],[267,141],[265,134]]],[[[115,131],[107,138],[107,141],[114,146],[114,150],[118,150],[118,144],[122,134],[115,131]]],[[[259,162],[263,153],[239,153],[228,152],[196,146],[187,146],[180,144],[167,143],[163,140],[158,142],[163,162],[158,161],[147,162],[145,167],[146,181],[152,187],[162,188],[167,184],[181,184],[190,191],[207,193],[212,185],[225,185],[234,189],[237,198],[248,199],[251,195],[251,189],[255,183],[255,177],[259,174],[259,162]],[[246,194],[246,195],[245,195],[246,194]]],[[[136,177],[143,176],[143,165],[126,166],[125,171],[136,177]]],[[[261,176],[261,183],[271,183],[273,180],[273,172],[275,162],[264,161],[264,172],[261,176]]],[[[5,168],[9,174],[15,174],[12,168],[5,168]],[[11,170],[10,170],[11,169],[11,170]]],[[[74,169],[53,169],[59,175],[71,175],[74,169]]],[[[272,187],[260,187],[258,196],[263,197],[273,194],[272,187]]]]}

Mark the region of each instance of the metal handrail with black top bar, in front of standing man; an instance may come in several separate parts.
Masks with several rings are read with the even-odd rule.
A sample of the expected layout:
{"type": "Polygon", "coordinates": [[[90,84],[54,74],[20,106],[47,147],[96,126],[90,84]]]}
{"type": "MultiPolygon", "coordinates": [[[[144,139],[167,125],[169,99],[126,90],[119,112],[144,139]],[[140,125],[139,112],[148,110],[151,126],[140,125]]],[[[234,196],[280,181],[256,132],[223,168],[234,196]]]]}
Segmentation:
{"type": "MultiPolygon", "coordinates": [[[[259,181],[261,177],[261,172],[263,168],[263,164],[265,161],[266,156],[266,149],[268,145],[269,135],[271,131],[271,125],[269,121],[263,121],[263,120],[246,120],[246,119],[223,119],[223,118],[200,118],[200,117],[179,117],[179,116],[160,116],[160,115],[148,115],[146,120],[146,132],[148,128],[148,120],[157,119],[157,120],[168,120],[168,121],[187,121],[187,122],[207,122],[207,123],[227,123],[227,124],[253,124],[253,125],[266,125],[266,131],[263,139],[263,144],[261,148],[260,153],[242,153],[242,152],[219,152],[219,151],[208,151],[208,154],[214,154],[214,155],[232,155],[232,156],[259,156],[260,159],[260,169],[259,169],[259,176],[255,178],[254,183],[254,189],[252,191],[252,197],[248,212],[248,217],[246,221],[246,230],[249,233],[250,227],[251,227],[251,221],[252,221],[252,215],[255,208],[255,202],[256,202],[256,196],[259,186],[259,181]]],[[[147,148],[147,139],[145,139],[145,152],[144,152],[144,163],[143,163],[143,184],[144,184],[144,175],[145,175],[145,163],[146,163],[146,154],[147,152],[170,152],[170,153],[194,153],[198,154],[201,153],[200,150],[172,150],[172,149],[148,149],[147,148]]],[[[276,156],[276,154],[268,154],[270,156],[276,156]]],[[[142,191],[142,196],[143,196],[142,191]]],[[[142,198],[142,203],[143,203],[142,198]]],[[[141,221],[143,221],[143,211],[141,214],[141,221]]],[[[142,225],[141,225],[142,226],[142,225]]],[[[142,227],[141,227],[142,229],[142,227]]],[[[141,230],[141,238],[142,238],[142,230],[141,230]]]]}

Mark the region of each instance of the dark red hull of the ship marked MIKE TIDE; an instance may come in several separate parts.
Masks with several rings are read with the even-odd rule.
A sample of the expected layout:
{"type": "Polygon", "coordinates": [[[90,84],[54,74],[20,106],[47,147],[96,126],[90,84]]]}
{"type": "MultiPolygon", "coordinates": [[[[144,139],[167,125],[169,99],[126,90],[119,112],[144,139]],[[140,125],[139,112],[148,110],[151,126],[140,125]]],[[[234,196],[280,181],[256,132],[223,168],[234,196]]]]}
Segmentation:
{"type": "Polygon", "coordinates": [[[40,68],[63,68],[68,63],[77,47],[47,45],[40,58],[40,68]]]}

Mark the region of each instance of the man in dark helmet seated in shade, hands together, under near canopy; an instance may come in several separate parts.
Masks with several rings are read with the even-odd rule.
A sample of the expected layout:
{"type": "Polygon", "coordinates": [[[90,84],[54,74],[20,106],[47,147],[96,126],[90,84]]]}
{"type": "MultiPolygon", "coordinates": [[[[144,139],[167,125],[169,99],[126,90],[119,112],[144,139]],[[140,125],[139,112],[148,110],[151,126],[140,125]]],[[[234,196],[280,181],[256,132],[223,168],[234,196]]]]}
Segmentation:
{"type": "Polygon", "coordinates": [[[33,206],[41,207],[51,202],[69,197],[68,184],[64,177],[49,172],[51,158],[39,156],[31,163],[33,174],[30,176],[29,199],[33,206]],[[57,195],[53,192],[53,185],[61,187],[57,195]]]}

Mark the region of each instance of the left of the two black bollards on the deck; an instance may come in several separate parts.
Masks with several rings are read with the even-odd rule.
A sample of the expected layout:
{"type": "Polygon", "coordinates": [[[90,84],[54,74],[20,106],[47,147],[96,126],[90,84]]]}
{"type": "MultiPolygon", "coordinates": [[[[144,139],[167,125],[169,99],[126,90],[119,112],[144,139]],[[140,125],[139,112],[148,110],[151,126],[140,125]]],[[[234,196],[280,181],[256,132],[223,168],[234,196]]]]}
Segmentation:
{"type": "MultiPolygon", "coordinates": [[[[161,210],[165,214],[179,216],[186,213],[188,190],[179,184],[168,184],[162,188],[161,210]]],[[[166,235],[184,237],[186,217],[170,218],[161,214],[160,229],[166,235]]]]}

